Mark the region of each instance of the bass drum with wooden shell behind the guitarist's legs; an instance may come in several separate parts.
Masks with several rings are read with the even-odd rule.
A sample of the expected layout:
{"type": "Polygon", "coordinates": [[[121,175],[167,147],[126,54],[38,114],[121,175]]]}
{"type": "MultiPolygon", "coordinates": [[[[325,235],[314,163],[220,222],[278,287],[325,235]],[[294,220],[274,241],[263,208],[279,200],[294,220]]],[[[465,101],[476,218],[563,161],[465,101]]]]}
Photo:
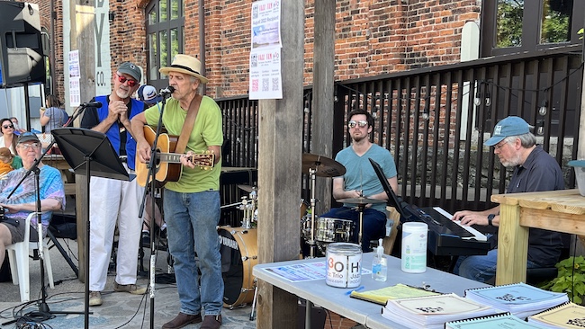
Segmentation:
{"type": "Polygon", "coordinates": [[[257,229],[220,227],[223,307],[245,306],[254,299],[252,268],[258,263],[257,229]]]}

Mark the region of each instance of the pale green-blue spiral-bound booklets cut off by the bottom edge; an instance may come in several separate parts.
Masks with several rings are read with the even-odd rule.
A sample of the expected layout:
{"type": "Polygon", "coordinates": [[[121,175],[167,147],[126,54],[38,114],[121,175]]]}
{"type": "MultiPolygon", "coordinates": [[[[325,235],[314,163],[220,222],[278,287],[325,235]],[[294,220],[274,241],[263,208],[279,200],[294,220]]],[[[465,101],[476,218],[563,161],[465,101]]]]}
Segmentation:
{"type": "Polygon", "coordinates": [[[446,329],[488,329],[488,328],[510,328],[510,329],[529,329],[540,328],[545,326],[529,324],[518,316],[512,316],[509,313],[500,313],[495,316],[474,317],[472,319],[457,320],[447,322],[446,329]]]}

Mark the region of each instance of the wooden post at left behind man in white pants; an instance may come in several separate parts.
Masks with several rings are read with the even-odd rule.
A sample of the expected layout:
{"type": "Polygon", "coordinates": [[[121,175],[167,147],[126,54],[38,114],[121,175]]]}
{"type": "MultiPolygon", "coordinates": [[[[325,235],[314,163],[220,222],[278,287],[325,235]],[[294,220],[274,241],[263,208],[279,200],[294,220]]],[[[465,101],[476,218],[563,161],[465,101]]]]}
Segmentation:
{"type": "MultiPolygon", "coordinates": [[[[81,79],[79,81],[81,88],[81,99],[89,100],[94,97],[95,93],[95,34],[94,19],[95,9],[94,0],[75,0],[70,4],[71,19],[71,49],[79,50],[79,67],[81,79]]],[[[67,54],[63,54],[67,58],[67,54]]],[[[79,117],[77,120],[81,120],[79,117]]],[[[79,123],[76,123],[79,127],[79,123]]],[[[85,203],[87,196],[85,175],[76,176],[76,223],[77,223],[77,246],[79,256],[79,280],[85,279],[85,265],[87,255],[85,254],[85,235],[87,232],[86,218],[88,204],[85,203]]]]}

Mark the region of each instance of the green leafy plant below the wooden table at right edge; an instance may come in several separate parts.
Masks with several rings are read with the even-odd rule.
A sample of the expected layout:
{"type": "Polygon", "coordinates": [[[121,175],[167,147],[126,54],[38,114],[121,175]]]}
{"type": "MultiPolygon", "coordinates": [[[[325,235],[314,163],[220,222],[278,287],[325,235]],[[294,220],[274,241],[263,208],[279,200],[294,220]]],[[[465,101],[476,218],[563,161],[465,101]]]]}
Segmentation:
{"type": "Polygon", "coordinates": [[[571,256],[554,266],[559,269],[557,277],[541,288],[566,292],[570,300],[581,304],[585,295],[585,258],[571,256]]]}

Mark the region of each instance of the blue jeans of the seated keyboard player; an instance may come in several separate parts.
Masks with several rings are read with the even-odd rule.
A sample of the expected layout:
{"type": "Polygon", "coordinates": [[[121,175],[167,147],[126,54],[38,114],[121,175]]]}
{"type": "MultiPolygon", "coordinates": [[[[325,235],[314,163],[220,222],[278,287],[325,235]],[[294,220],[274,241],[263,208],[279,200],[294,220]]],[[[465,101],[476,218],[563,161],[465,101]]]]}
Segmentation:
{"type": "MultiPolygon", "coordinates": [[[[460,256],[455,262],[453,273],[467,279],[486,282],[496,276],[498,249],[491,249],[486,255],[460,256]]],[[[527,269],[540,266],[528,260],[527,269]]]]}

